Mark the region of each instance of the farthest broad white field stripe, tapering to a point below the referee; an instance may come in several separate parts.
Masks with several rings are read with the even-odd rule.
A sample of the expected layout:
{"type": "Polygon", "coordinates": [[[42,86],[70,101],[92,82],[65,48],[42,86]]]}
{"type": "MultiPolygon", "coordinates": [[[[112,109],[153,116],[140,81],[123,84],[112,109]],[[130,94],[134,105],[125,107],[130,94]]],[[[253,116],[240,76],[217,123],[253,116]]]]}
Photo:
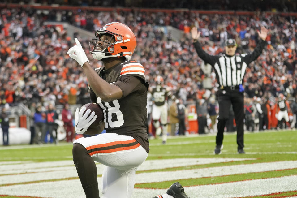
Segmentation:
{"type": "MultiPolygon", "coordinates": [[[[139,167],[139,170],[163,169],[175,166],[188,166],[193,164],[209,164],[215,162],[227,161],[241,161],[248,158],[182,158],[182,159],[165,159],[165,160],[147,160],[139,167]]],[[[97,164],[98,174],[102,174],[104,165],[97,164]]],[[[3,165],[0,166],[0,184],[19,183],[19,182],[33,182],[45,179],[64,179],[70,177],[77,177],[77,172],[73,161],[54,161],[54,162],[39,162],[28,163],[24,165],[3,165]],[[69,166],[71,165],[71,166],[69,166]],[[50,167],[49,167],[50,166],[50,167]],[[61,166],[61,167],[53,167],[61,166]],[[65,167],[64,167],[65,166],[65,167]],[[4,169],[2,169],[4,167],[4,169]],[[43,167],[43,168],[41,168],[43,167]],[[46,168],[49,167],[49,168],[46,168]],[[12,170],[9,170],[9,169],[12,170]],[[40,172],[39,172],[40,171],[40,172]],[[49,172],[44,172],[49,171],[49,172]],[[24,174],[15,174],[24,173],[24,174]]]]}

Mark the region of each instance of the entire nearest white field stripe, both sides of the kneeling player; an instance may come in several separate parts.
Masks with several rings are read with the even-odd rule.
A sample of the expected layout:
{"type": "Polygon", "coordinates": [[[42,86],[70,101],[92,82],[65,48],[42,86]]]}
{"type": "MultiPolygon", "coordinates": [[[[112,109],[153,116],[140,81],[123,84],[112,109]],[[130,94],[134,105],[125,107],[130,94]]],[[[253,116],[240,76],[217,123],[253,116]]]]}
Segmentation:
{"type": "MultiPolygon", "coordinates": [[[[98,183],[101,192],[101,179],[99,178],[98,183]]],[[[296,183],[297,176],[286,176],[280,178],[185,187],[185,192],[187,193],[187,196],[191,198],[245,197],[275,192],[294,191],[297,190],[296,183]]],[[[79,179],[0,187],[0,193],[16,196],[41,196],[51,198],[81,198],[85,196],[79,179]]],[[[134,189],[131,198],[149,198],[165,193],[166,189],[136,188],[134,189]]],[[[102,195],[102,193],[100,193],[100,195],[102,195]]]]}

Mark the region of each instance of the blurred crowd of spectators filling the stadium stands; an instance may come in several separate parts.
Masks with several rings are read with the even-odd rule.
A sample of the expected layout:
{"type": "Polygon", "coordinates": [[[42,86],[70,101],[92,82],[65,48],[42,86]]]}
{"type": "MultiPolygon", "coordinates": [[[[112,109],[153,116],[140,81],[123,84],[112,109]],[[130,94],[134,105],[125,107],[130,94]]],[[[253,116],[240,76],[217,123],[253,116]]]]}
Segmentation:
{"type": "MultiPolygon", "coordinates": [[[[261,26],[269,29],[266,50],[247,70],[243,85],[247,98],[258,97],[276,103],[280,93],[297,95],[297,20],[292,16],[267,15],[200,15],[198,12],[95,12],[41,11],[1,9],[0,11],[0,98],[1,104],[32,102],[48,106],[88,103],[88,82],[79,66],[67,55],[74,41],[66,30],[45,26],[45,21],[67,21],[91,32],[103,24],[118,21],[127,24],[136,35],[133,59],[145,67],[147,81],[161,75],[165,84],[184,102],[208,101],[217,89],[215,73],[205,74],[192,46],[189,31],[196,26],[202,32],[203,47],[209,54],[224,51],[227,38],[238,43],[238,53],[252,51],[261,26]],[[175,40],[162,26],[183,31],[175,40]],[[198,66],[198,67],[197,67],[198,66]],[[213,89],[203,87],[211,77],[213,89]]],[[[82,41],[88,49],[89,41],[82,41]]],[[[101,67],[86,51],[91,65],[101,67]]],[[[294,103],[294,102],[292,102],[294,103]]],[[[294,109],[292,109],[294,110],[294,109]]],[[[295,109],[295,111],[297,111],[295,109]]],[[[295,113],[296,112],[291,112],[295,113]]]]}

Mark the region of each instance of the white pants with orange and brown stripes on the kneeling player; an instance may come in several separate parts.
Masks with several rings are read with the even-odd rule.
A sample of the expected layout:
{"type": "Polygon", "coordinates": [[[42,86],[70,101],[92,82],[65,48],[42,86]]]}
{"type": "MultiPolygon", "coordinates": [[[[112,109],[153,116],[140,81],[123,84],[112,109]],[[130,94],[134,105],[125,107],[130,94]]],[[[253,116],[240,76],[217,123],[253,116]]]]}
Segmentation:
{"type": "Polygon", "coordinates": [[[129,198],[135,184],[135,172],[148,157],[144,148],[131,136],[103,133],[79,138],[94,161],[106,167],[102,174],[101,198],[129,198]]]}

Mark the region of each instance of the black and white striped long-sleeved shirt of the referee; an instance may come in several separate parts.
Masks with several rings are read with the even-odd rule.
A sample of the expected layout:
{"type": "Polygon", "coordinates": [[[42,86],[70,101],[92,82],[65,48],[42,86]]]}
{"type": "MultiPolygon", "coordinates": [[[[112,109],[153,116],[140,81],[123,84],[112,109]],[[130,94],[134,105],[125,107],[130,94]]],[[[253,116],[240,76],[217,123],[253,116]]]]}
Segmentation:
{"type": "Polygon", "coordinates": [[[212,56],[204,52],[198,41],[194,43],[198,56],[214,68],[218,84],[224,87],[242,84],[248,65],[260,56],[265,45],[266,41],[260,39],[255,50],[250,54],[212,56]]]}

